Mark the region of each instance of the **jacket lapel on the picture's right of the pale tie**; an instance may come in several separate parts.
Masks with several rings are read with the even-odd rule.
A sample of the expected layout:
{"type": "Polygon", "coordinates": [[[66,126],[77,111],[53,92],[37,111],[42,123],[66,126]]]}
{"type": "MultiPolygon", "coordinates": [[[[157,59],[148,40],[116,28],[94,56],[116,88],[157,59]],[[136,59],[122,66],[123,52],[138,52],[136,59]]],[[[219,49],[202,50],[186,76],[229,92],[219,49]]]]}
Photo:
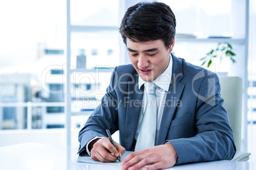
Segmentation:
{"type": "Polygon", "coordinates": [[[173,120],[173,115],[176,110],[178,101],[183,93],[185,87],[180,81],[183,78],[183,68],[180,59],[173,55],[173,73],[171,76],[171,84],[166,95],[166,103],[162,114],[162,121],[160,124],[159,134],[157,138],[157,145],[164,143],[166,136],[173,120]]]}

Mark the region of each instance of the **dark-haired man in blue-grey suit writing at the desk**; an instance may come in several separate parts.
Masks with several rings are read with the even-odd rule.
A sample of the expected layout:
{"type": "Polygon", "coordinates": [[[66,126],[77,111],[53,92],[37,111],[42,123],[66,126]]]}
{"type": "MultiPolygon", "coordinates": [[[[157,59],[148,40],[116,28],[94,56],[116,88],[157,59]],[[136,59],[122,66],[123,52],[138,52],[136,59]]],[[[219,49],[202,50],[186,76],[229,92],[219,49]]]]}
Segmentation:
{"type": "Polygon", "coordinates": [[[135,151],[122,161],[122,169],[234,157],[218,77],[171,53],[175,27],[173,11],[164,3],[138,3],[126,11],[120,34],[131,65],[113,71],[101,105],[79,133],[78,153],[112,162],[125,150],[135,151]],[[119,130],[117,149],[106,129],[119,130]]]}

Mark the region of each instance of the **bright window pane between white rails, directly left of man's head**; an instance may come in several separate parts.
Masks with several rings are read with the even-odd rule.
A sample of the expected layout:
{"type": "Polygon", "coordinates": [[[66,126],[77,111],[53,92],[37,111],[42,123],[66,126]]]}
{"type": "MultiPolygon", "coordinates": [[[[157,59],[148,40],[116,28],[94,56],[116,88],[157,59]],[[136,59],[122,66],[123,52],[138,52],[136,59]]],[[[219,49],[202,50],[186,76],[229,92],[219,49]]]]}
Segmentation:
{"type": "MultiPolygon", "coordinates": [[[[99,27],[101,28],[101,27],[99,27]]],[[[104,27],[103,27],[104,29],[104,27]]],[[[98,30],[96,32],[71,32],[71,65],[76,69],[95,69],[96,67],[115,67],[120,65],[120,34],[117,30],[98,30]],[[99,48],[99,43],[104,44],[99,48]],[[80,49],[85,53],[84,62],[78,60],[80,49]],[[77,67],[78,63],[86,63],[77,67]]]]}

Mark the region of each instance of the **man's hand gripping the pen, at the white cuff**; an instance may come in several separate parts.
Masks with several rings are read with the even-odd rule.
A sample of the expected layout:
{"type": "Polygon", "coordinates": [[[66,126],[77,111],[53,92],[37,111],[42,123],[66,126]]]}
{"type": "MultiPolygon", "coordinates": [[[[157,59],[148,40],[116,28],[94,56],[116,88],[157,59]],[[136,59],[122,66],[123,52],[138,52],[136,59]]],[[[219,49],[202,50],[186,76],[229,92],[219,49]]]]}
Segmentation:
{"type": "MultiPolygon", "coordinates": [[[[115,141],[114,141],[115,142],[115,141]]],[[[93,140],[89,144],[89,150],[93,160],[101,162],[113,162],[120,158],[125,152],[125,148],[115,142],[115,146],[112,145],[109,138],[98,138],[93,140]]]]}

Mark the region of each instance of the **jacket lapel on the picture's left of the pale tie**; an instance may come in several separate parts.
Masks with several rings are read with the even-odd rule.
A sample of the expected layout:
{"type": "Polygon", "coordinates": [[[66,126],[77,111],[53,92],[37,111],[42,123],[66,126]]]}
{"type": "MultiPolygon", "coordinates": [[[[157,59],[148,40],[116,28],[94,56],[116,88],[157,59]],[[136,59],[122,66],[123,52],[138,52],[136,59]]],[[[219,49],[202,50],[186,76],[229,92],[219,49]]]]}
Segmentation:
{"type": "Polygon", "coordinates": [[[138,87],[138,74],[134,74],[134,82],[128,83],[128,97],[127,97],[127,114],[125,121],[125,129],[126,129],[126,140],[127,140],[127,148],[132,149],[132,143],[134,141],[134,136],[136,133],[136,129],[139,121],[139,114],[141,112],[141,105],[138,103],[143,99],[143,89],[139,89],[138,87]],[[136,103],[137,102],[137,103],[136,103]]]}

